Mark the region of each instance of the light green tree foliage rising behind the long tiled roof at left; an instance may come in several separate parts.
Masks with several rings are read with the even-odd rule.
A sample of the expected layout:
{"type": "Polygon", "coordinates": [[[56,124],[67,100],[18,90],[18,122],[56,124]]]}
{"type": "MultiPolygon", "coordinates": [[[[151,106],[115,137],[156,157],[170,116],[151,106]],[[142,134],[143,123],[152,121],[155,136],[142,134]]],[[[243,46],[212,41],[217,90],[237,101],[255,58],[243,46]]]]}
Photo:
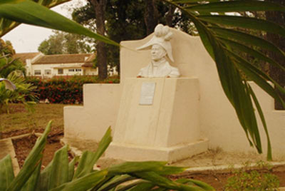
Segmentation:
{"type": "Polygon", "coordinates": [[[68,53],[90,53],[91,48],[83,37],[73,33],[53,31],[53,35],[41,42],[38,51],[46,55],[68,53]]]}

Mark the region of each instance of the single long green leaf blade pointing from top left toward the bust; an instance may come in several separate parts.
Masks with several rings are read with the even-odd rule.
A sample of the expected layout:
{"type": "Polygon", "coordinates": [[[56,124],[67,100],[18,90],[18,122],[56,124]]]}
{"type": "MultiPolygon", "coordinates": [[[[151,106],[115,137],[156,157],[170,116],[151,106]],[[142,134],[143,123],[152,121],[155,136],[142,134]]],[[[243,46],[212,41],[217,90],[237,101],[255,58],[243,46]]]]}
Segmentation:
{"type": "Polygon", "coordinates": [[[10,0],[7,3],[1,4],[0,17],[19,23],[42,26],[48,29],[56,29],[68,33],[77,33],[89,36],[90,38],[95,38],[98,41],[120,46],[115,41],[97,33],[93,33],[80,24],[49,10],[45,6],[41,6],[29,0],[20,2],[17,0],[10,0]]]}

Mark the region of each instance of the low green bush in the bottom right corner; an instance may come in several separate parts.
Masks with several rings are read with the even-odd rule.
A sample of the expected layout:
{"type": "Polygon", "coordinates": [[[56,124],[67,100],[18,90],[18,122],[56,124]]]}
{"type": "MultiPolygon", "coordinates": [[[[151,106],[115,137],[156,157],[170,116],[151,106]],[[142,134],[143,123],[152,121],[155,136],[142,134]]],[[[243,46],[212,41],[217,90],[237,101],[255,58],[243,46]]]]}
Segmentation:
{"type": "Polygon", "coordinates": [[[225,190],[271,190],[279,187],[279,179],[270,172],[258,172],[257,170],[237,170],[232,177],[227,180],[225,190]]]}

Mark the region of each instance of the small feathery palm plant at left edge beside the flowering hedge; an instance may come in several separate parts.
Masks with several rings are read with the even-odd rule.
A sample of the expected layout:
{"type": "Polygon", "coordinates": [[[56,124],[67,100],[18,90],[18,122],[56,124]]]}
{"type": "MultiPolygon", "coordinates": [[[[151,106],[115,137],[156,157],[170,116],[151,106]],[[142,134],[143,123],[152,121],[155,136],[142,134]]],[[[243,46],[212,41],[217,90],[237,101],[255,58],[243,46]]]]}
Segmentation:
{"type": "Polygon", "coordinates": [[[16,90],[8,90],[4,83],[0,82],[0,113],[9,113],[9,103],[24,103],[27,110],[33,111],[33,105],[37,100],[36,94],[33,93],[36,87],[26,83],[22,76],[16,76],[14,73],[10,73],[7,79],[15,84],[16,90]]]}

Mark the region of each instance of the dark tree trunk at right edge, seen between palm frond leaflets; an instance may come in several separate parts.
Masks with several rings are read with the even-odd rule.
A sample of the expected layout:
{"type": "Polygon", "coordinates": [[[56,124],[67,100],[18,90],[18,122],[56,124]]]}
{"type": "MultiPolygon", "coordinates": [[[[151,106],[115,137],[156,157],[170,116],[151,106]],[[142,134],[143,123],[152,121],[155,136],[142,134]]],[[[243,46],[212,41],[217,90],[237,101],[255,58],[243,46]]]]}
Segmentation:
{"type": "MultiPolygon", "coordinates": [[[[267,0],[276,4],[281,4],[285,6],[284,0],[267,0]]],[[[273,21],[283,27],[285,27],[285,14],[283,12],[277,12],[277,11],[270,11],[266,12],[266,20],[273,21]]],[[[281,37],[277,34],[273,33],[266,33],[266,38],[268,41],[271,41],[276,46],[279,46],[282,51],[285,51],[285,38],[281,37]]],[[[278,54],[274,52],[269,52],[269,56],[271,58],[274,58],[275,61],[280,63],[282,66],[285,67],[285,61],[284,58],[279,56],[278,54]]],[[[276,68],[275,66],[269,65],[269,76],[274,79],[277,83],[279,83],[282,87],[285,86],[285,72],[281,71],[281,69],[276,68]]],[[[282,96],[283,100],[285,101],[285,96],[282,96]]],[[[284,110],[285,108],[282,107],[281,103],[278,101],[275,101],[275,109],[276,110],[284,110]]]]}

